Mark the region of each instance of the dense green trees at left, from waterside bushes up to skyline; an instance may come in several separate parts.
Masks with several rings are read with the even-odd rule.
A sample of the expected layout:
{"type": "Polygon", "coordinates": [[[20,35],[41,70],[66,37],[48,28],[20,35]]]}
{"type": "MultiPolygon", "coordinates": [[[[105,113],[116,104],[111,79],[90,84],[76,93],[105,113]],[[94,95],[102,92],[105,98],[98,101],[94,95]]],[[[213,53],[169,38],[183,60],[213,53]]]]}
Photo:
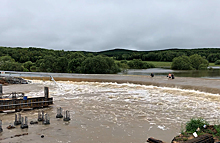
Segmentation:
{"type": "Polygon", "coordinates": [[[0,47],[0,70],[4,71],[114,74],[150,67],[154,66],[140,59],[116,62],[92,52],[0,47]]]}

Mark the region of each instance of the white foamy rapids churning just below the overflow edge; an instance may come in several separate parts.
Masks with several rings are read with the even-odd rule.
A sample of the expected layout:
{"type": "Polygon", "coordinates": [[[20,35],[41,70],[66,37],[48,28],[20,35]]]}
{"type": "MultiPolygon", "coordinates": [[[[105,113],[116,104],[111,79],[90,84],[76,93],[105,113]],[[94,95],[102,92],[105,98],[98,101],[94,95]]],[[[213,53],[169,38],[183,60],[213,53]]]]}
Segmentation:
{"type": "MultiPolygon", "coordinates": [[[[54,100],[77,100],[84,106],[99,101],[100,105],[94,109],[109,105],[111,112],[119,117],[131,115],[144,120],[152,117],[149,122],[167,124],[186,122],[193,116],[213,122],[220,118],[219,94],[130,83],[57,81],[54,85],[51,81],[37,80],[32,83],[52,86],[50,95],[54,100]]],[[[42,92],[31,94],[38,96],[42,92]]],[[[165,129],[163,126],[158,128],[165,129]]]]}

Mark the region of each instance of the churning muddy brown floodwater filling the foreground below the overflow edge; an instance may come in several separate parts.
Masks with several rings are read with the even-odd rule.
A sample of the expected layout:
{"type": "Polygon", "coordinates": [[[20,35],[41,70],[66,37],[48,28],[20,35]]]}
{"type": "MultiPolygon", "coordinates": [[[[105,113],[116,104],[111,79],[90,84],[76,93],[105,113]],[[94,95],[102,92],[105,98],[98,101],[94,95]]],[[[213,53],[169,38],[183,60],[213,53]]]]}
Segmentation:
{"type": "Polygon", "coordinates": [[[32,80],[28,85],[4,86],[3,92],[43,96],[44,86],[49,87],[54,105],[20,113],[30,122],[37,120],[39,110],[44,110],[50,115],[51,124],[8,130],[15,113],[1,113],[4,131],[0,142],[144,143],[149,137],[170,142],[192,117],[203,117],[210,123],[218,123],[220,118],[219,95],[194,90],[131,83],[32,80]],[[69,122],[55,118],[58,107],[70,111],[69,122]],[[28,135],[10,138],[21,133],[28,135]]]}

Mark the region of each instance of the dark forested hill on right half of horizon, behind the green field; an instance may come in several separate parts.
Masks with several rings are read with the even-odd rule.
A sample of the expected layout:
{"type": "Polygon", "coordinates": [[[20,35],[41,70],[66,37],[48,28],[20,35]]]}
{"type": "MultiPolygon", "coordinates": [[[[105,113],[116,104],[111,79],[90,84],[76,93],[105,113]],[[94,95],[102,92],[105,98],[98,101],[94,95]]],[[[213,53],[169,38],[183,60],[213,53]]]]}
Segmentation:
{"type": "Polygon", "coordinates": [[[198,48],[198,49],[166,49],[156,51],[132,51],[124,49],[114,49],[98,52],[106,56],[114,57],[116,60],[141,59],[142,61],[165,61],[172,62],[173,58],[179,56],[201,55],[209,62],[220,59],[220,48],[198,48]]]}

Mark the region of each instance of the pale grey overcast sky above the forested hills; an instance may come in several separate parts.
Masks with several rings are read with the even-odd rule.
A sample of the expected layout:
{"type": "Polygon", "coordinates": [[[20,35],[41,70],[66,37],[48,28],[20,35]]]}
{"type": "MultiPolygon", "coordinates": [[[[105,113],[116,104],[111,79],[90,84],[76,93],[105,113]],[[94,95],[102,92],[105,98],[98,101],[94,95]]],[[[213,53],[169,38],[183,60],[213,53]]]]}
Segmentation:
{"type": "Polygon", "coordinates": [[[1,0],[0,46],[65,51],[220,47],[220,0],[1,0]]]}

